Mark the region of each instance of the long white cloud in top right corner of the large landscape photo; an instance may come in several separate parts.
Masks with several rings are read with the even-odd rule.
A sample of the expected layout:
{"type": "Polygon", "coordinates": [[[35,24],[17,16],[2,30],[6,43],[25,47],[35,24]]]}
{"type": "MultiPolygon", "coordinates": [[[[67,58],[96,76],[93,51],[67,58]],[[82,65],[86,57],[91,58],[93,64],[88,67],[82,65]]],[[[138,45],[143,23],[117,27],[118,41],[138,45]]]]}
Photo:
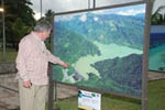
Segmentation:
{"type": "Polygon", "coordinates": [[[141,9],[141,10],[127,10],[127,11],[119,11],[117,14],[121,14],[121,15],[136,15],[140,13],[144,13],[145,9],[141,9]]]}

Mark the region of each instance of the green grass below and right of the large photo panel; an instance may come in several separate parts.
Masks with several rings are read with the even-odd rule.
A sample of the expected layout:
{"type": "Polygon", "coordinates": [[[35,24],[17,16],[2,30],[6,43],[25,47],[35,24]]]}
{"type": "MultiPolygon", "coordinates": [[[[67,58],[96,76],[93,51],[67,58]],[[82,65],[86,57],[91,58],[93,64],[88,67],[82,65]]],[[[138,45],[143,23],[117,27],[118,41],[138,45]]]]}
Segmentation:
{"type": "MultiPolygon", "coordinates": [[[[77,97],[62,99],[54,102],[54,108],[61,108],[61,110],[79,110],[77,108],[77,97]]],[[[165,79],[150,81],[147,110],[165,110],[164,102],[165,79]]],[[[141,110],[141,101],[112,95],[102,95],[101,110],[141,110]]]]}

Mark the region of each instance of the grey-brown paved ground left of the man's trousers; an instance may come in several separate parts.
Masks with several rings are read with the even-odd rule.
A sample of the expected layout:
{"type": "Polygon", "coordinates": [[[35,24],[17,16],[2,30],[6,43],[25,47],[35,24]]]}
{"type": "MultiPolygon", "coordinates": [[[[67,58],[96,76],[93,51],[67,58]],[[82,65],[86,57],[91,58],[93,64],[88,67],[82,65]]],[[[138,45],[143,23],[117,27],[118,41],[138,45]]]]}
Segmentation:
{"type": "Polygon", "coordinates": [[[0,75],[0,110],[19,110],[15,74],[0,75]]]}

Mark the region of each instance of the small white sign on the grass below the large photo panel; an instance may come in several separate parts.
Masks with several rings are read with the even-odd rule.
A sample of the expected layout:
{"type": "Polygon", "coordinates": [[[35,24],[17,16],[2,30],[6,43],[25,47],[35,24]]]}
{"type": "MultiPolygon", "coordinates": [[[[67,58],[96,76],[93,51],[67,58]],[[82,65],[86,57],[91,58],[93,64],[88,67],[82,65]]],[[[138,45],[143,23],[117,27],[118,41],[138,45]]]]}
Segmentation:
{"type": "Polygon", "coordinates": [[[101,110],[101,95],[86,90],[79,90],[78,108],[86,110],[101,110]]]}

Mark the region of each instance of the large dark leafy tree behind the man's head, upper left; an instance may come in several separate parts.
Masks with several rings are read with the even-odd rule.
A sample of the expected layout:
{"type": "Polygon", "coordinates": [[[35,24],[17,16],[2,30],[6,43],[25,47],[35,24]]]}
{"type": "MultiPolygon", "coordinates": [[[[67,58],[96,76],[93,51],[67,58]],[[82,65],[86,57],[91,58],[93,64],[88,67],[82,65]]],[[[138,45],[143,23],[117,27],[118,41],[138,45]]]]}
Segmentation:
{"type": "MultiPolygon", "coordinates": [[[[1,2],[1,0],[0,0],[1,2]]],[[[6,37],[7,43],[13,44],[12,46],[16,48],[15,45],[18,45],[18,41],[20,41],[23,36],[16,36],[15,30],[20,30],[20,26],[15,26],[18,22],[22,22],[23,26],[25,28],[33,28],[35,24],[35,19],[33,16],[34,12],[30,8],[32,3],[30,0],[4,0],[4,15],[6,15],[6,37]],[[19,29],[16,29],[19,28],[19,29]],[[16,40],[15,40],[16,38],[16,40]]],[[[1,14],[0,14],[1,16],[1,14]]],[[[1,18],[0,18],[1,19],[1,18]]],[[[2,25],[2,22],[0,22],[0,25],[2,25]]],[[[22,29],[24,29],[22,28],[22,29]]],[[[0,34],[2,30],[0,30],[0,34]]],[[[26,30],[28,31],[28,30],[26,30]]],[[[22,32],[19,32],[22,33],[22,32]]],[[[28,33],[28,32],[26,32],[28,33]]],[[[22,34],[23,35],[23,34],[22,34]]],[[[1,34],[2,36],[2,34],[1,34]]]]}

